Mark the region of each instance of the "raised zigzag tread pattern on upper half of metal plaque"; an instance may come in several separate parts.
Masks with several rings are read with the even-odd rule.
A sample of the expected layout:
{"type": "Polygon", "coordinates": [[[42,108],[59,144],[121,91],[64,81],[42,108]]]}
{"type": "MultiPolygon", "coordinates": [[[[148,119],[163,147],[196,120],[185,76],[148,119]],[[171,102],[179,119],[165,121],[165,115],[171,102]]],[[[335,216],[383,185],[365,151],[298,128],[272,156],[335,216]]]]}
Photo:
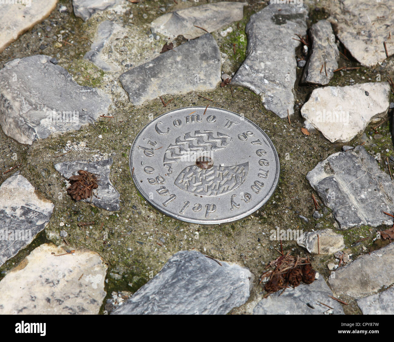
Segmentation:
{"type": "Polygon", "coordinates": [[[203,153],[218,151],[225,148],[230,141],[230,137],[220,132],[195,131],[185,133],[183,139],[179,136],[175,139],[175,144],[170,144],[165,150],[163,165],[172,170],[173,164],[177,164],[182,157],[187,157],[192,153],[203,153]]]}

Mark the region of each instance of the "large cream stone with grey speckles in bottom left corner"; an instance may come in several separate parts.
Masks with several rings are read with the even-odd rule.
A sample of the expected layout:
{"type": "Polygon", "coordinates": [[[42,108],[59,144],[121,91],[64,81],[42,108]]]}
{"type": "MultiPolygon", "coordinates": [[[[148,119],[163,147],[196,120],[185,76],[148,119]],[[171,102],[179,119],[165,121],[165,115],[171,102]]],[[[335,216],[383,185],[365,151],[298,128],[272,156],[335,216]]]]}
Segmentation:
{"type": "Polygon", "coordinates": [[[97,252],[53,244],[34,249],[0,282],[0,314],[98,314],[107,266],[97,252]]]}

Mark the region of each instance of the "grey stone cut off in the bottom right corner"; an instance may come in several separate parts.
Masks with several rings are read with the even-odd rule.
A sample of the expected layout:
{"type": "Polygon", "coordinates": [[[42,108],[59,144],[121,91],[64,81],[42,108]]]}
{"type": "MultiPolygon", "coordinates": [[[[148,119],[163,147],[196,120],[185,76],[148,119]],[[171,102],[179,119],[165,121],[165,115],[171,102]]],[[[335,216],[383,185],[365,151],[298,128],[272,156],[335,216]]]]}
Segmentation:
{"type": "Polygon", "coordinates": [[[357,299],[357,305],[363,315],[392,315],[394,314],[394,287],[357,299]]]}

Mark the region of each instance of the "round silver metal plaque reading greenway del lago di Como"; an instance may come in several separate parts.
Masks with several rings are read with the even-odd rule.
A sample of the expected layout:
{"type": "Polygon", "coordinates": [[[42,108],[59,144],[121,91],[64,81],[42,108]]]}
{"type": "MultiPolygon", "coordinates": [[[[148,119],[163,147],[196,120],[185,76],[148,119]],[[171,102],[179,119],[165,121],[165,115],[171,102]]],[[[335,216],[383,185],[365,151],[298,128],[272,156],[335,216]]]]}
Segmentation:
{"type": "Polygon", "coordinates": [[[279,158],[266,133],[228,110],[188,107],[162,114],[134,139],[130,172],[156,209],[186,222],[231,222],[266,203],[279,158]]]}

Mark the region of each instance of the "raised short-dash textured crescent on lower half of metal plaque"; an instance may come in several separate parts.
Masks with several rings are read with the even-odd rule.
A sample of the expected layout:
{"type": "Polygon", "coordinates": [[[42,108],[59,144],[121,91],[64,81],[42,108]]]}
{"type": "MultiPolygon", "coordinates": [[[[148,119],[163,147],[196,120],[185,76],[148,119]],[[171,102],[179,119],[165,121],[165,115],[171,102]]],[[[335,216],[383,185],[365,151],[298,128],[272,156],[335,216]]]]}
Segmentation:
{"type": "Polygon", "coordinates": [[[212,166],[208,170],[192,165],[180,172],[175,185],[193,194],[217,196],[239,187],[248,171],[248,162],[234,166],[212,166]]]}

